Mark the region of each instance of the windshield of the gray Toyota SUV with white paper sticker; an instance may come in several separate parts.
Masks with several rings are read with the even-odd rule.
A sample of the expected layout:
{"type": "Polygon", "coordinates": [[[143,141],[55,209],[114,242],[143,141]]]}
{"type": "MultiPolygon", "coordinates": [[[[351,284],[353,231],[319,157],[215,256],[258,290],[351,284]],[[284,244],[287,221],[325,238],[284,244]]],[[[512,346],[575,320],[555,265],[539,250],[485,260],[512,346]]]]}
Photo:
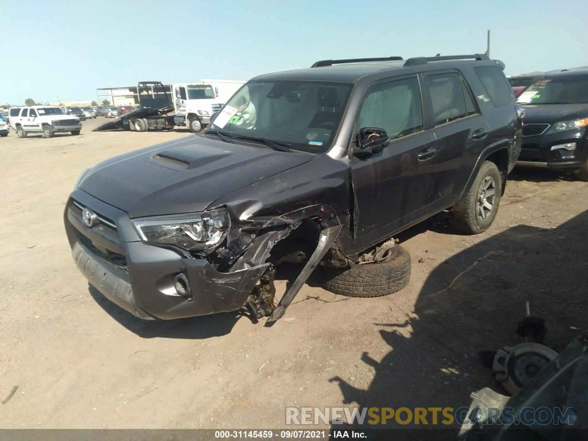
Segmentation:
{"type": "Polygon", "coordinates": [[[293,150],[326,152],[352,86],[297,80],[249,82],[229,100],[210,128],[236,138],[286,142],[293,150]]]}

